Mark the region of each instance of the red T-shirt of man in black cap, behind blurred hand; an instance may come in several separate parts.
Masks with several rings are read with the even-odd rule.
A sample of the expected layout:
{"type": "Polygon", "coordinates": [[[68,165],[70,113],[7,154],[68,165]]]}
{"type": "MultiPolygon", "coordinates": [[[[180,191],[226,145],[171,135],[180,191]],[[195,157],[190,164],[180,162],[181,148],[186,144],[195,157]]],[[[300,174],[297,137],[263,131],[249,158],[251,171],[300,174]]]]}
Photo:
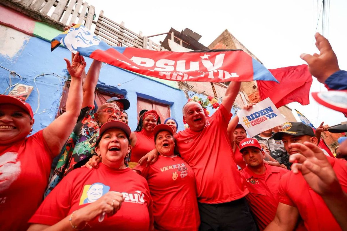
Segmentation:
{"type": "MultiPolygon", "coordinates": [[[[347,193],[347,162],[327,157],[340,185],[347,193]]],[[[289,172],[281,178],[279,202],[297,207],[307,230],[341,230],[322,197],[308,186],[301,173],[289,172]]]]}

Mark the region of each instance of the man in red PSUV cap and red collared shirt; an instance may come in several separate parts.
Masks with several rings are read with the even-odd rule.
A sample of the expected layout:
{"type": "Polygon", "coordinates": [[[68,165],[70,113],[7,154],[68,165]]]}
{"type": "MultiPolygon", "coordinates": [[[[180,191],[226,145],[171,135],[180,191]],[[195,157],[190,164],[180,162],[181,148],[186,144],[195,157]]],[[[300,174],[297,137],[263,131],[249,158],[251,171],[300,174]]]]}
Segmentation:
{"type": "Polygon", "coordinates": [[[246,138],[240,141],[240,152],[247,164],[240,171],[249,190],[246,199],[260,230],[264,230],[276,214],[280,179],[289,171],[265,164],[265,152],[256,139],[246,138]]]}

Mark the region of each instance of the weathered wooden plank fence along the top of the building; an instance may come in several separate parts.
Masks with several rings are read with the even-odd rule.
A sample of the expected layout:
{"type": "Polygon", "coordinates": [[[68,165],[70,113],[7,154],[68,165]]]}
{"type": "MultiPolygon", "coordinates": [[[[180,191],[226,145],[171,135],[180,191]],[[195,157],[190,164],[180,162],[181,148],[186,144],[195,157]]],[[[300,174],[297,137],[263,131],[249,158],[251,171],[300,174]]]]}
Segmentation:
{"type": "Polygon", "coordinates": [[[166,50],[143,36],[142,32],[137,34],[127,29],[124,22],[118,24],[105,17],[103,10],[95,20],[95,7],[83,0],[2,0],[1,3],[60,30],[72,23],[83,24],[93,30],[92,25],[95,24],[94,34],[111,46],[166,50]]]}

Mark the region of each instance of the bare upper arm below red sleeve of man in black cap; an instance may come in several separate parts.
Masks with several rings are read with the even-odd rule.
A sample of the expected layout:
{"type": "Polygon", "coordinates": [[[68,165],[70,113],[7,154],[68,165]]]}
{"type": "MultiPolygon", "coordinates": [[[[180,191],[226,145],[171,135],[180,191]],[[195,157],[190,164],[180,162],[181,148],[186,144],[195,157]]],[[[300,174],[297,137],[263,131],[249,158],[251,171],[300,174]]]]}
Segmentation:
{"type": "Polygon", "coordinates": [[[296,207],[278,203],[276,215],[273,221],[264,229],[264,231],[294,230],[298,217],[299,211],[296,207]]]}

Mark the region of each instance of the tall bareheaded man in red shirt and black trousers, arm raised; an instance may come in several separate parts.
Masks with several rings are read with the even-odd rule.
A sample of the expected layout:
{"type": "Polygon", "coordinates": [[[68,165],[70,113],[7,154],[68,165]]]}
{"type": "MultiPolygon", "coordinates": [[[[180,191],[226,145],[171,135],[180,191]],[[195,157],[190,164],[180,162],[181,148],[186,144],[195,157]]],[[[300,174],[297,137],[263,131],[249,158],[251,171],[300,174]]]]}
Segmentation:
{"type": "Polygon", "coordinates": [[[195,172],[199,230],[256,230],[245,200],[242,183],[227,134],[231,107],[240,82],[231,82],[223,101],[211,117],[205,117],[200,104],[190,101],[183,107],[183,120],[189,125],[176,135],[179,153],[195,172]]]}

